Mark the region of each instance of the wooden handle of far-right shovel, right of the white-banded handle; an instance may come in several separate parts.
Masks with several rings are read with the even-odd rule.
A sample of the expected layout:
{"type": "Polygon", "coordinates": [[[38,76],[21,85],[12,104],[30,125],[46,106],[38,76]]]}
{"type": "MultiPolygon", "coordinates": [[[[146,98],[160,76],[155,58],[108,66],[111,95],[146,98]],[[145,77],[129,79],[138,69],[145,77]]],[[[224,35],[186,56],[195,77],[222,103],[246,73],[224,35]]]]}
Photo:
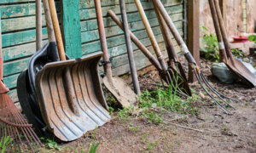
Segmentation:
{"type": "Polygon", "coordinates": [[[218,16],[218,23],[220,26],[220,31],[224,40],[224,46],[225,46],[225,50],[226,50],[226,54],[228,56],[229,59],[231,59],[232,62],[234,62],[232,53],[231,53],[231,47],[230,47],[230,42],[228,40],[228,36],[227,36],[227,32],[224,26],[224,20],[221,14],[221,10],[219,8],[219,4],[218,4],[218,0],[214,0],[214,4],[215,4],[215,9],[217,12],[217,16],[218,16]]]}

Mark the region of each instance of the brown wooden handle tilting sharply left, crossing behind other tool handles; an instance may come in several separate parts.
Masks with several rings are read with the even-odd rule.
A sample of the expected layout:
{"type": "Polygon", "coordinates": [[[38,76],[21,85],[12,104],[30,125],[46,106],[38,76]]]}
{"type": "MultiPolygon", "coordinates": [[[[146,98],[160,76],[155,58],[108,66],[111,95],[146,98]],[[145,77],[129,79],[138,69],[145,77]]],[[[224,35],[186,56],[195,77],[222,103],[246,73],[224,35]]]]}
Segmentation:
{"type": "MultiPolygon", "coordinates": [[[[116,14],[113,13],[112,10],[108,10],[108,15],[119,26],[119,28],[124,31],[124,26],[123,26],[122,22],[119,20],[119,17],[116,14]]],[[[146,48],[143,45],[143,43],[140,42],[139,39],[131,31],[129,31],[129,32],[130,32],[132,42],[135,43],[137,48],[139,48],[143,52],[143,54],[148,58],[148,60],[151,62],[151,64],[154,65],[154,67],[157,69],[157,71],[159,71],[161,79],[163,79],[165,82],[167,82],[166,81],[167,78],[164,75],[165,73],[162,71],[162,68],[160,66],[160,62],[154,57],[153,54],[150,53],[148,48],[146,48]]],[[[177,93],[177,94],[179,94],[179,93],[177,93]]]]}

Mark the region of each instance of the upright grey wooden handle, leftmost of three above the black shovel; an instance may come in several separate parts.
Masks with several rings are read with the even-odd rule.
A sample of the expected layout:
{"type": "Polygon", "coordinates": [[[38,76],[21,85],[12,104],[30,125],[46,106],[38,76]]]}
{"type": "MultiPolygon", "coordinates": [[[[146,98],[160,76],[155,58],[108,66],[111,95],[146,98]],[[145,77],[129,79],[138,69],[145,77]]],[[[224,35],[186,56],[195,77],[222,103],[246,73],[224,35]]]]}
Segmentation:
{"type": "Polygon", "coordinates": [[[36,0],[36,46],[37,51],[42,48],[42,3],[41,0],[36,0]]]}

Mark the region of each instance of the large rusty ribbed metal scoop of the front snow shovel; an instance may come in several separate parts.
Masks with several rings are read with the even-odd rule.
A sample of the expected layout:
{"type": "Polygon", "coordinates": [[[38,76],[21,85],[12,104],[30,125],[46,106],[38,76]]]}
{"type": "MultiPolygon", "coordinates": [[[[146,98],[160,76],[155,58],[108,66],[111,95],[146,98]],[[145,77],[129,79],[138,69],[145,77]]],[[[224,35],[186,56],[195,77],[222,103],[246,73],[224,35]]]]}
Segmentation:
{"type": "Polygon", "coordinates": [[[38,104],[44,122],[62,141],[78,139],[110,120],[108,105],[102,93],[98,63],[102,53],[86,55],[81,59],[52,62],[36,76],[38,104]],[[71,77],[70,87],[64,87],[64,73],[71,77]],[[66,88],[73,90],[72,110],[66,88]]]}

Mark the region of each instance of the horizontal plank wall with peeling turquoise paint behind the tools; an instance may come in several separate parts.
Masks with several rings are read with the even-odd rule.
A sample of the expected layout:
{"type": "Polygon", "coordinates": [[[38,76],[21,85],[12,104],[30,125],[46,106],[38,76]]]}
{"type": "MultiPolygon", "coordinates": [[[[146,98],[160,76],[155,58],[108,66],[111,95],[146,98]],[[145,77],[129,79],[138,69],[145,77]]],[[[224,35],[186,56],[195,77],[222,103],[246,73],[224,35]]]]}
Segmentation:
{"type": "MultiPolygon", "coordinates": [[[[125,48],[125,37],[119,27],[107,17],[107,11],[113,11],[119,15],[119,1],[103,0],[102,14],[108,38],[108,52],[113,57],[113,73],[122,75],[129,71],[129,63],[125,48]]],[[[125,0],[128,13],[128,21],[136,36],[153,53],[150,46],[148,35],[143,26],[140,15],[137,13],[137,7],[134,0],[125,0]]],[[[157,41],[160,42],[160,48],[165,52],[165,44],[160,35],[160,28],[152,3],[148,0],[142,0],[143,8],[148,15],[148,20],[153,27],[157,41]]],[[[172,20],[175,22],[178,30],[183,34],[183,0],[162,0],[172,20]]],[[[60,3],[56,1],[57,11],[60,12],[60,3]]],[[[67,8],[66,8],[67,9],[67,8]]],[[[4,82],[11,89],[9,92],[11,98],[17,102],[16,79],[20,71],[26,70],[29,58],[36,52],[35,45],[35,1],[34,0],[0,0],[0,11],[2,14],[2,32],[3,32],[3,55],[4,55],[4,82]]],[[[43,9],[44,15],[44,9],[43,9]]],[[[59,14],[60,15],[60,14],[59,14]]],[[[85,55],[101,51],[98,37],[96,14],[93,0],[79,0],[79,18],[82,49],[80,54],[85,55]]],[[[44,19],[44,16],[43,16],[44,19]]],[[[121,18],[120,18],[121,20],[121,18]]],[[[45,21],[43,20],[44,44],[47,42],[47,31],[45,21]]],[[[134,55],[137,69],[142,69],[150,65],[148,59],[137,49],[135,45],[134,55]]],[[[179,48],[177,48],[177,51],[179,48]]]]}

